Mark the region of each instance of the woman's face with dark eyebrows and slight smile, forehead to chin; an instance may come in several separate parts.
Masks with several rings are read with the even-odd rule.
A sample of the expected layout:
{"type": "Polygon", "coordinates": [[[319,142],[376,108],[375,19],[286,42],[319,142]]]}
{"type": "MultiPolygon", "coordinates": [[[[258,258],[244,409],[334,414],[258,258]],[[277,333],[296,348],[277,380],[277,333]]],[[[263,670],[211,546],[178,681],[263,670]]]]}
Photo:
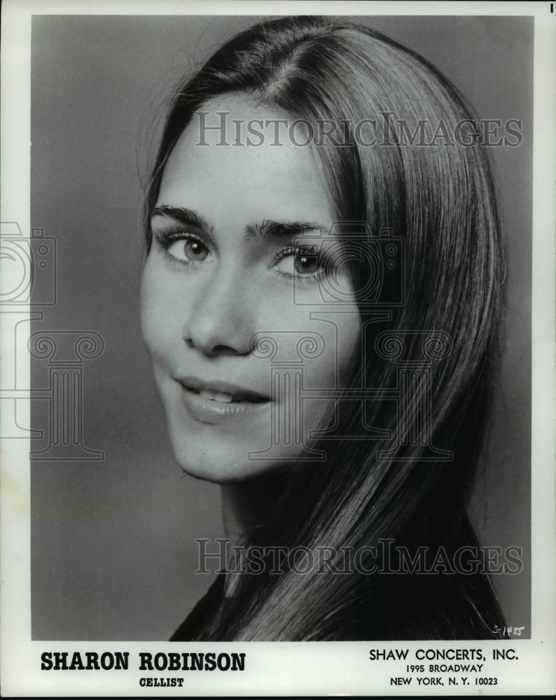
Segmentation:
{"type": "MultiPolygon", "coordinates": [[[[232,120],[284,118],[233,96],[202,111],[207,125],[229,113],[230,144],[232,120]]],[[[304,446],[349,377],[360,319],[339,246],[319,243],[334,208],[312,147],[218,146],[218,130],[204,140],[194,116],[165,167],[141,321],[177,461],[226,483],[310,456],[304,446]],[[305,244],[307,229],[316,239],[305,244]],[[319,292],[331,275],[341,313],[319,292]]]]}

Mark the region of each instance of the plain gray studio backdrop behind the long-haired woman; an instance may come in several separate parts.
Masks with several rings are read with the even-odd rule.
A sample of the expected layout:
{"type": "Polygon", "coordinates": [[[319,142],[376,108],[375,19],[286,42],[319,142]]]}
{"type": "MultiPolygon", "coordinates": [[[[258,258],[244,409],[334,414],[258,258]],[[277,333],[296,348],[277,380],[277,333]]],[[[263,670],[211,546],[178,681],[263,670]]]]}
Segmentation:
{"type": "MultiPolygon", "coordinates": [[[[33,330],[92,330],[83,437],[103,461],[32,463],[32,638],[164,640],[209,586],[196,537],[223,535],[218,486],[183,476],[141,341],[141,186],[164,100],[183,69],[256,21],[35,16],[32,226],[57,240],[57,303],[33,330]]],[[[445,73],[482,118],[522,119],[493,148],[508,237],[503,386],[473,517],[485,545],[524,548],[494,577],[507,622],[529,632],[531,18],[361,18],[445,73]]],[[[48,377],[34,363],[33,386],[48,377]]],[[[43,426],[43,402],[33,406],[43,426]]],[[[43,446],[34,441],[33,449],[43,446]]]]}

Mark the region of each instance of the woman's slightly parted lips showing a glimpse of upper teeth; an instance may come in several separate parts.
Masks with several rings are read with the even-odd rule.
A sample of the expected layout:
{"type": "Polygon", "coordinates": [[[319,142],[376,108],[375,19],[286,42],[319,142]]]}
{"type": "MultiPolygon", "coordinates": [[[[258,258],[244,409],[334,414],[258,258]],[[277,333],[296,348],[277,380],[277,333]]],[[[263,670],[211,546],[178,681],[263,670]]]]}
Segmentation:
{"type": "Polygon", "coordinates": [[[270,397],[227,381],[196,377],[176,379],[188,413],[201,423],[217,424],[251,416],[265,409],[270,397]]]}

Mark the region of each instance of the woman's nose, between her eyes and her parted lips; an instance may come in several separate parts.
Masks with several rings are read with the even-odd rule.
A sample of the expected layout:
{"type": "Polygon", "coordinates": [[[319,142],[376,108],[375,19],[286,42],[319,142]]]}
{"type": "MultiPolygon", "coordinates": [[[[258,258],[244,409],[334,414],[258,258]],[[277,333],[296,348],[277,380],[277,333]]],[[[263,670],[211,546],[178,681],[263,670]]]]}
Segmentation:
{"type": "Polygon", "coordinates": [[[215,270],[198,290],[183,326],[183,340],[207,356],[249,354],[253,326],[253,289],[244,270],[215,270]]]}

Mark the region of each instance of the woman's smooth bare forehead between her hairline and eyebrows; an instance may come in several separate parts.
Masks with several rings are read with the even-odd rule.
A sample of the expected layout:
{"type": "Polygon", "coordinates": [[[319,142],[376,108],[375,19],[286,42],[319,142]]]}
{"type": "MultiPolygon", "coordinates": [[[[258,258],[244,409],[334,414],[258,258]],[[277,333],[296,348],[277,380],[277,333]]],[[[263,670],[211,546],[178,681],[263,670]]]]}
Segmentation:
{"type": "Polygon", "coordinates": [[[213,216],[242,209],[251,218],[329,225],[334,205],[314,146],[297,146],[287,138],[279,145],[271,139],[251,139],[251,144],[235,139],[240,127],[246,134],[248,123],[271,119],[286,116],[234,95],[205,104],[169,156],[158,204],[210,209],[213,216]]]}

